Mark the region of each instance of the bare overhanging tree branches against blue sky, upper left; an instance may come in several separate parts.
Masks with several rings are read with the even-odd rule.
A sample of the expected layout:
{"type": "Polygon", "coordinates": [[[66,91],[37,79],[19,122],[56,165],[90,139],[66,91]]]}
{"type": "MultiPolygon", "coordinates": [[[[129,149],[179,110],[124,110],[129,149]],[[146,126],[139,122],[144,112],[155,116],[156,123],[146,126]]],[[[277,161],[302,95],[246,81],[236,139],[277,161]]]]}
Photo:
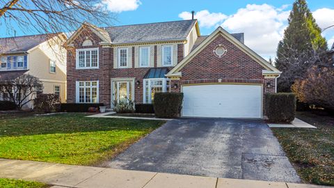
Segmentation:
{"type": "Polygon", "coordinates": [[[116,15],[103,0],[0,0],[0,27],[13,36],[29,33],[58,33],[76,30],[84,21],[111,25],[116,15]]]}

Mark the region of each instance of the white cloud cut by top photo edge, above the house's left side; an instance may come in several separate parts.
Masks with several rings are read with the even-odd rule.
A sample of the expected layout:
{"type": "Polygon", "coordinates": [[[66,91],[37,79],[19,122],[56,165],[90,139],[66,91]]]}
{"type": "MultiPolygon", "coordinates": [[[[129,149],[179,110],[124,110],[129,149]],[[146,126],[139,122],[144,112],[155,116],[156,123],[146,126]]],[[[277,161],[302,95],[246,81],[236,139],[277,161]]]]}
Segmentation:
{"type": "Polygon", "coordinates": [[[102,0],[100,5],[113,13],[136,10],[141,5],[139,0],[102,0]]]}

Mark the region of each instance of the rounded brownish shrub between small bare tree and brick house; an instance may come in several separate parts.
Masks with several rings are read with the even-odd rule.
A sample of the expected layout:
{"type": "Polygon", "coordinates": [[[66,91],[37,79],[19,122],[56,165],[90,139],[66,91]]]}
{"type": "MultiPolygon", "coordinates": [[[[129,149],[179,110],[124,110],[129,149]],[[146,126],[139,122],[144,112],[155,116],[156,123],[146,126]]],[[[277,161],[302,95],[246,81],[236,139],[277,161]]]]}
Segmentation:
{"type": "Polygon", "coordinates": [[[38,94],[33,102],[33,109],[38,112],[54,112],[57,111],[57,104],[61,102],[58,95],[54,94],[38,94]]]}

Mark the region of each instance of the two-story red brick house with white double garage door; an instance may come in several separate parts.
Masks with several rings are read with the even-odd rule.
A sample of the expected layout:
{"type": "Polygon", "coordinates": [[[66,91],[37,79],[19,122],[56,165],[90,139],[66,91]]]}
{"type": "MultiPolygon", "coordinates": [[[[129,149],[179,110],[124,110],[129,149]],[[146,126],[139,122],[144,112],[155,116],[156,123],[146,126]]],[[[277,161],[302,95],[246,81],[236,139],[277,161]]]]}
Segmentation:
{"type": "Polygon", "coordinates": [[[67,102],[134,100],[183,92],[182,116],[262,118],[263,93],[280,72],[218,27],[200,36],[197,20],[109,26],[83,24],[67,40],[67,102]]]}

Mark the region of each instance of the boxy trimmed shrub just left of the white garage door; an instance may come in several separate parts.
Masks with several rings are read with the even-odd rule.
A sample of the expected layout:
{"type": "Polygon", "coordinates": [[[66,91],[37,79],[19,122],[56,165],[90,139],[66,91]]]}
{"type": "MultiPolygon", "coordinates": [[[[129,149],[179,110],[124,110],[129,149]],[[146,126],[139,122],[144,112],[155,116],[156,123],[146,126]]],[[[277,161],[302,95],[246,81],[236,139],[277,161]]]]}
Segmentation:
{"type": "Polygon", "coordinates": [[[182,109],[183,93],[155,93],[154,112],[158,118],[176,118],[182,109]]]}

